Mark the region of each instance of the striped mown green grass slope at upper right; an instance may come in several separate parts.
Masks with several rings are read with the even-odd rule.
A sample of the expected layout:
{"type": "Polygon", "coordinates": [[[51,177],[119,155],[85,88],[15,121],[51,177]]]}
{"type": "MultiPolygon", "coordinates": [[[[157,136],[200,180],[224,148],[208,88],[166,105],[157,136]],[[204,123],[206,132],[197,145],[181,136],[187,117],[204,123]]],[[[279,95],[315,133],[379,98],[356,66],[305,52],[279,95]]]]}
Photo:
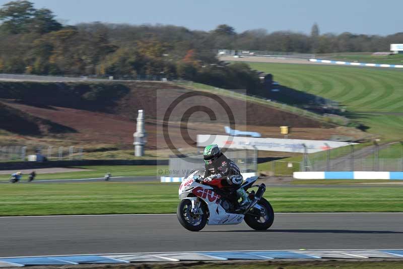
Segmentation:
{"type": "Polygon", "coordinates": [[[248,63],[280,84],[338,101],[347,115],[388,140],[403,138],[402,70],[328,65],[248,63]]]}

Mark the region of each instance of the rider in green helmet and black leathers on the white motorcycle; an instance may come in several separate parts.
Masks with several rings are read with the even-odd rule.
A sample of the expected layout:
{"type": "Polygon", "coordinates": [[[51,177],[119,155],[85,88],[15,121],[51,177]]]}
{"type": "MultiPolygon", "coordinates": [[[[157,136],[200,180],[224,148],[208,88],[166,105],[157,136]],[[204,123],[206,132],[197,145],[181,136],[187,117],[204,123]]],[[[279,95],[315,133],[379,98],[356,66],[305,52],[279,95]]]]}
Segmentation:
{"type": "Polygon", "coordinates": [[[243,188],[240,188],[243,178],[238,166],[223,153],[216,145],[209,145],[203,152],[205,160],[205,181],[213,181],[221,179],[221,185],[233,188],[236,191],[238,198],[242,201],[239,204],[240,208],[246,208],[250,203],[247,193],[243,188]]]}

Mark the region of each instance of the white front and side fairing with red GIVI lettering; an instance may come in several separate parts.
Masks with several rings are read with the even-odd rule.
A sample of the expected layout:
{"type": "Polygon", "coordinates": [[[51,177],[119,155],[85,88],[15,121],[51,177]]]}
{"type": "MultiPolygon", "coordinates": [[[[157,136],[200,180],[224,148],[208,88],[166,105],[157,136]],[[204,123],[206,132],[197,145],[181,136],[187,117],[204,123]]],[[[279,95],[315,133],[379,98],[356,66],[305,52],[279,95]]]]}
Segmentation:
{"type": "Polygon", "coordinates": [[[193,177],[198,172],[199,171],[193,172],[180,184],[179,199],[195,200],[196,198],[192,196],[196,196],[200,200],[203,200],[207,204],[210,211],[208,222],[209,225],[230,225],[241,223],[244,215],[226,212],[225,209],[220,205],[220,195],[214,192],[213,187],[199,184],[194,181],[193,177]],[[189,194],[193,195],[188,197],[189,194]]]}

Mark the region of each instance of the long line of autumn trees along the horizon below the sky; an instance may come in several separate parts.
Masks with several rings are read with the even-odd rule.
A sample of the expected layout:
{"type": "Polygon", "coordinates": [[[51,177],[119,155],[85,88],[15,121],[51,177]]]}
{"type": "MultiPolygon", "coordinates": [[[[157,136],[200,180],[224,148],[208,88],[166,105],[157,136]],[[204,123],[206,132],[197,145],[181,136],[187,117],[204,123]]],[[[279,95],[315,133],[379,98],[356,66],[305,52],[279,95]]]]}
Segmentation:
{"type": "Polygon", "coordinates": [[[217,49],[301,53],[385,51],[403,43],[403,33],[389,36],[352,33],[310,35],[264,29],[237,33],[229,25],[212,31],[173,25],[101,22],[62,25],[52,11],[29,1],[0,9],[0,72],[39,75],[136,76],[183,78],[224,88],[257,87],[258,75],[242,63],[217,59],[217,49]]]}

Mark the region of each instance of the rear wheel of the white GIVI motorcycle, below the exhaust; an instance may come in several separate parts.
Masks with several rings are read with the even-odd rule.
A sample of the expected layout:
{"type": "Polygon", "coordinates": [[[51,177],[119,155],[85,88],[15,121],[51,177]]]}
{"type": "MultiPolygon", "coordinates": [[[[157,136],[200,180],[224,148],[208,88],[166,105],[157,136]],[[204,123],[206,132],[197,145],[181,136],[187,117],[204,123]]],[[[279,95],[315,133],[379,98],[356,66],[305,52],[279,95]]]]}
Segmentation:
{"type": "Polygon", "coordinates": [[[245,223],[254,230],[267,230],[274,222],[273,207],[270,202],[264,198],[261,198],[257,204],[264,208],[264,212],[259,212],[252,208],[245,214],[245,223]]]}

